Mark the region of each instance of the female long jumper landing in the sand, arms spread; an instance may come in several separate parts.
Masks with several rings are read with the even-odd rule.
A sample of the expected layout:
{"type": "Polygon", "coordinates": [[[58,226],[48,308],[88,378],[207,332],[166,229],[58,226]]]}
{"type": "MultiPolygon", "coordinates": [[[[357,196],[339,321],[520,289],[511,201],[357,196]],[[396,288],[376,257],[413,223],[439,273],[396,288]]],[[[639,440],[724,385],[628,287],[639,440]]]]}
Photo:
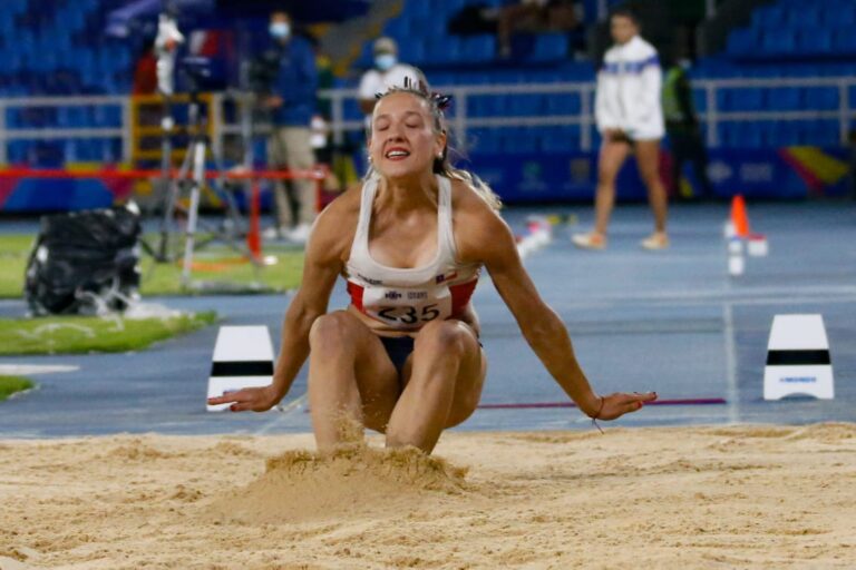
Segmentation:
{"type": "MultiPolygon", "coordinates": [[[[409,83],[409,82],[408,82],[409,83]]],[[[208,400],[233,412],[270,410],[309,357],[309,402],[319,451],[352,444],[369,428],[388,448],[430,453],[478,404],[487,372],[473,293],[483,269],[541,362],[592,419],[639,411],[656,394],[599,395],[565,325],[541,298],[499,200],[449,163],[449,98],[390,88],[369,127],[371,168],[318,217],[303,281],[289,306],[273,383],[208,400]],[[328,312],[338,278],[350,304],[328,312]],[[353,428],[358,428],[354,430],[353,428]]]]}

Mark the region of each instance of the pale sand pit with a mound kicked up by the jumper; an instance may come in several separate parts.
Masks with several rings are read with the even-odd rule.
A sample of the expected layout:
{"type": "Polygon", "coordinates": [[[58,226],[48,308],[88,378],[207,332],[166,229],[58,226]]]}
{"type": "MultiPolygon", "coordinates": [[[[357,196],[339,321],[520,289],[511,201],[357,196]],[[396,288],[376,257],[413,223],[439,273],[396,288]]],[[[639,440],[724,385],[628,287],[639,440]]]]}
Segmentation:
{"type": "Polygon", "coordinates": [[[0,441],[0,569],[854,568],[856,424],[0,441]]]}

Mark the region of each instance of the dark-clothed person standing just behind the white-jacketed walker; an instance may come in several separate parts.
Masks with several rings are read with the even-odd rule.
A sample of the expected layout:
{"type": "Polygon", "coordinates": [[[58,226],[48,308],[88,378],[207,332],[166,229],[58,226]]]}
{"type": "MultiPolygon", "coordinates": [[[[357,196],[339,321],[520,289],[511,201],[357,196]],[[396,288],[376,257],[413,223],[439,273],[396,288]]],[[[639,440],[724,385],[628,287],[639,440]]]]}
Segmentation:
{"type": "Polygon", "coordinates": [[[710,198],[713,189],[708,178],[708,151],[701,139],[699,121],[692,105],[692,88],[687,69],[689,59],[681,58],[669,68],[663,82],[663,115],[665,117],[665,131],[669,134],[669,146],[672,149],[672,180],[674,195],[691,198],[681,186],[681,167],[690,163],[696,171],[696,177],[701,185],[701,197],[710,198]]]}

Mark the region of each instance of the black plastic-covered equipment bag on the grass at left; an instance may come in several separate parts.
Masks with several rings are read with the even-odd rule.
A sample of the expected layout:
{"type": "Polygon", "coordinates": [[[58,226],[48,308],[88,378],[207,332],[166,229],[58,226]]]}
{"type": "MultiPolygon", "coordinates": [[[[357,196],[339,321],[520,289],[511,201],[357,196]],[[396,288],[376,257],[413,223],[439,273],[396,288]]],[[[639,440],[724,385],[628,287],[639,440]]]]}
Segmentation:
{"type": "Polygon", "coordinates": [[[41,218],[27,264],[25,298],[33,315],[126,308],[139,288],[139,215],[114,207],[41,218]]]}

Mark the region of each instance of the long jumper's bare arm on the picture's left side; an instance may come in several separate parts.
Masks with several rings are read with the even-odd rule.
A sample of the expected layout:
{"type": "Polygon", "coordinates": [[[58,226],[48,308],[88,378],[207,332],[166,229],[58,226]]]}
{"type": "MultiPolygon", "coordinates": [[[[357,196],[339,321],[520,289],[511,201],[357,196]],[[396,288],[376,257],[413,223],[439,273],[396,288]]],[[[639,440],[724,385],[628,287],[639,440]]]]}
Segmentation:
{"type": "Polygon", "coordinates": [[[343,252],[350,248],[353,238],[353,232],[348,230],[356,223],[347,207],[351,198],[348,195],[338,198],[318,217],[312,228],[303,262],[303,279],[285,312],[273,383],[208,399],[208,404],[230,404],[233,412],[264,412],[289,392],[309,356],[309,331],[315,318],[327,313],[330,293],[342,269],[343,252]]]}

